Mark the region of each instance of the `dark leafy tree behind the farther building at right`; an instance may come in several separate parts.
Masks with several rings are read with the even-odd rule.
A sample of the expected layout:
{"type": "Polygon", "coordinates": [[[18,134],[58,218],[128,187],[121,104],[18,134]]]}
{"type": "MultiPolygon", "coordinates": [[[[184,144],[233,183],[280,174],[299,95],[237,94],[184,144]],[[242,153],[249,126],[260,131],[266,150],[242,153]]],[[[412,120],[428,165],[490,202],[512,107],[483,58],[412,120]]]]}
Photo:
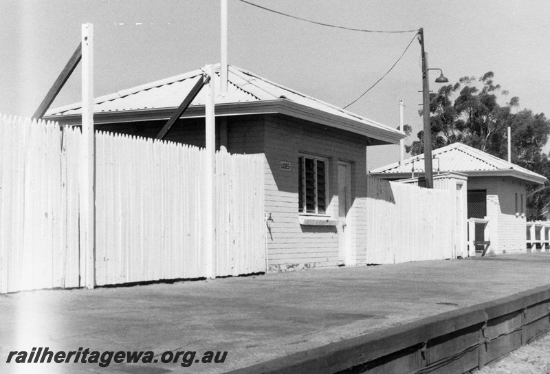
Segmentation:
{"type": "MultiPolygon", "coordinates": [[[[550,179],[550,160],[542,148],[550,134],[544,113],[521,109],[518,97],[507,100],[508,91],[494,83],[493,72],[480,78],[465,76],[454,85],[430,93],[432,149],[461,142],[507,159],[507,128],[511,126],[511,162],[550,179]]],[[[422,112],[419,111],[422,115],[422,112]]],[[[406,151],[423,153],[423,131],[406,151]]],[[[539,187],[529,187],[527,193],[539,187]]],[[[550,188],[527,197],[527,219],[544,219],[550,188]]]]}

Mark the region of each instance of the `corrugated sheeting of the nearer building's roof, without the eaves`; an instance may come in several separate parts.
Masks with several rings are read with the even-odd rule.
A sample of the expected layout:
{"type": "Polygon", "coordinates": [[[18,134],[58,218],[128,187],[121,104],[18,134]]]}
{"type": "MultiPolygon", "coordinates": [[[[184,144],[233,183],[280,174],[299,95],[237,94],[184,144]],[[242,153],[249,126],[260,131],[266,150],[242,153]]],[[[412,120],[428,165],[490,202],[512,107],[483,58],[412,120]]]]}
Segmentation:
{"type": "MultiPolygon", "coordinates": [[[[101,96],[94,100],[94,113],[116,112],[116,111],[143,111],[163,108],[177,108],[181,101],[189,93],[190,89],[195,85],[199,76],[206,73],[206,67],[197,69],[193,72],[173,76],[163,80],[157,80],[153,83],[140,85],[131,89],[117,91],[115,94],[101,96]]],[[[349,111],[338,108],[334,105],[322,102],[301,94],[298,91],[283,87],[271,82],[265,78],[257,76],[244,69],[229,65],[228,68],[228,92],[225,95],[220,95],[220,78],[219,64],[214,65],[214,94],[216,96],[216,104],[228,104],[239,102],[259,102],[267,100],[290,100],[300,106],[317,109],[331,115],[337,115],[345,120],[360,122],[369,127],[375,128],[390,135],[404,137],[401,131],[397,131],[389,126],[380,124],[373,120],[369,120],[360,115],[355,115],[349,111]]],[[[203,87],[195,99],[191,102],[190,107],[205,104],[206,87],[203,87]]],[[[82,103],[77,102],[64,107],[58,107],[47,111],[46,115],[63,116],[75,115],[82,111],[82,103]]]]}

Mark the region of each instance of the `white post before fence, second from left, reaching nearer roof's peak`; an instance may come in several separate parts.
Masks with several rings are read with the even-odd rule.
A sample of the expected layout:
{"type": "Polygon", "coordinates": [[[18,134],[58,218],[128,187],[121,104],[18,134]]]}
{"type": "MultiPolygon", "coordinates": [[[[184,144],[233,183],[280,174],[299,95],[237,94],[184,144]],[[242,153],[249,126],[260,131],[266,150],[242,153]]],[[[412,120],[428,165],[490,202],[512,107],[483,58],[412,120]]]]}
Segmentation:
{"type": "Polygon", "coordinates": [[[204,251],[206,278],[215,278],[214,274],[214,156],[216,153],[216,118],[214,114],[214,66],[208,68],[210,81],[208,83],[206,98],[206,185],[204,186],[204,199],[206,212],[204,222],[204,251]]]}

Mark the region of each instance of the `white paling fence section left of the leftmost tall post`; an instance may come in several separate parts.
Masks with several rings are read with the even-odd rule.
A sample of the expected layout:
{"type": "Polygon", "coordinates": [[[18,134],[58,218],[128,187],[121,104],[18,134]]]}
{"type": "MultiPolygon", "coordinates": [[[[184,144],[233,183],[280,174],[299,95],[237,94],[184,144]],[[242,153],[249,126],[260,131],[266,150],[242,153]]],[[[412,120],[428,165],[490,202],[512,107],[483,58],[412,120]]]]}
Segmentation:
{"type": "Polygon", "coordinates": [[[78,287],[80,131],[0,123],[0,292],[78,287]]]}

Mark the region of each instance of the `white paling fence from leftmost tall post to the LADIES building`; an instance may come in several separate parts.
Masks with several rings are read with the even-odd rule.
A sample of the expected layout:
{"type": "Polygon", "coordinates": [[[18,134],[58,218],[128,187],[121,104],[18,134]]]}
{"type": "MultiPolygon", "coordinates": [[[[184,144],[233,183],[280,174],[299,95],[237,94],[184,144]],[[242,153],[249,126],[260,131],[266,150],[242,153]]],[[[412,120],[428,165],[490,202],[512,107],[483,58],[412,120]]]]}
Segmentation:
{"type": "MultiPolygon", "coordinates": [[[[204,276],[205,151],[98,133],[96,153],[97,284],[204,276]]],[[[216,164],[214,274],[265,271],[263,160],[216,164]]]]}

